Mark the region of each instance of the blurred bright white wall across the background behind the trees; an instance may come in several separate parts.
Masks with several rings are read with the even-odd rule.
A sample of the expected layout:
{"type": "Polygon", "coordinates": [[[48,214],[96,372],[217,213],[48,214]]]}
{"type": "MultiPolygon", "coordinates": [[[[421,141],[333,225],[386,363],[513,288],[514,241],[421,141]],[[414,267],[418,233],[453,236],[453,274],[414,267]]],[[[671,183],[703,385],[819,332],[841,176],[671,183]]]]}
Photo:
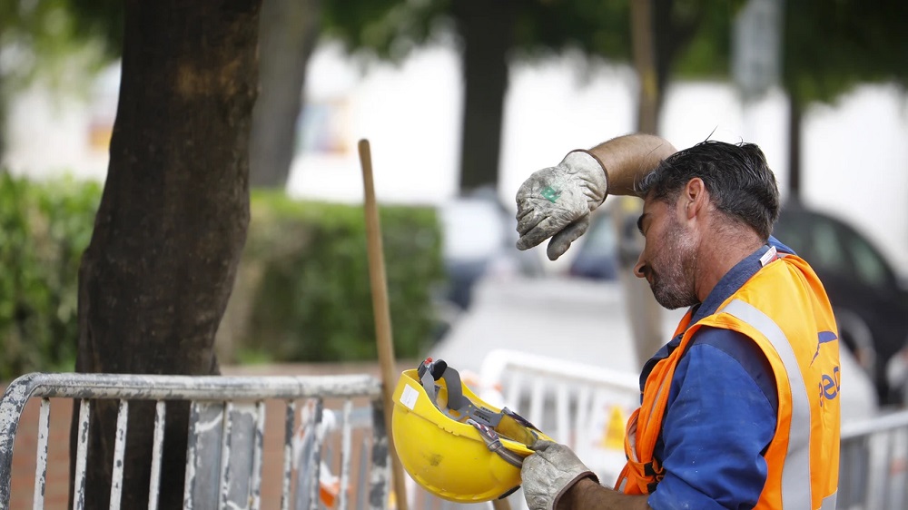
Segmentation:
{"type": "MultiPolygon", "coordinates": [[[[625,67],[590,67],[577,56],[511,70],[502,135],[499,196],[571,149],[630,132],[636,85],[625,67]]],[[[459,60],[447,47],[423,50],[400,66],[350,62],[333,46],[312,57],[301,152],[288,190],[294,196],[360,201],[356,152],[372,149],[380,201],[438,203],[457,192],[463,103],[459,60]]],[[[116,70],[90,103],[47,102],[33,91],[13,105],[5,164],[15,172],[74,172],[103,179],[104,146],[89,142],[113,122],[116,70]],[[99,127],[101,126],[101,127],[99,127]]],[[[788,181],[785,97],[769,93],[743,106],[725,83],[676,83],[662,134],[677,147],[711,137],[761,145],[783,190],[788,181]]],[[[805,115],[804,201],[863,230],[908,274],[908,98],[867,85],[805,115]]]]}

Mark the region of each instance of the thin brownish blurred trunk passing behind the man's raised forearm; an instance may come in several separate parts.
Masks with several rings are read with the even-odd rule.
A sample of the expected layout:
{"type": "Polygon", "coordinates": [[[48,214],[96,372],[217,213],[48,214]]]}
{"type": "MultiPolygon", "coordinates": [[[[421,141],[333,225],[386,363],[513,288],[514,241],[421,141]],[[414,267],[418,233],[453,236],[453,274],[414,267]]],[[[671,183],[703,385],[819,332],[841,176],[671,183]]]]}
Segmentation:
{"type": "MultiPolygon", "coordinates": [[[[635,0],[631,4],[631,30],[634,44],[634,64],[639,79],[639,100],[637,103],[637,131],[657,134],[659,109],[662,103],[662,89],[656,73],[656,39],[654,30],[653,5],[650,0],[635,0]]],[[[662,309],[653,297],[646,280],[634,276],[632,270],[637,257],[643,250],[643,238],[636,228],[628,228],[637,220],[641,203],[637,199],[622,197],[627,202],[613,208],[618,229],[620,253],[624,254],[621,282],[627,293],[627,313],[630,319],[634,345],[637,347],[637,364],[642,368],[656,350],[666,342],[662,331],[662,309]]]]}

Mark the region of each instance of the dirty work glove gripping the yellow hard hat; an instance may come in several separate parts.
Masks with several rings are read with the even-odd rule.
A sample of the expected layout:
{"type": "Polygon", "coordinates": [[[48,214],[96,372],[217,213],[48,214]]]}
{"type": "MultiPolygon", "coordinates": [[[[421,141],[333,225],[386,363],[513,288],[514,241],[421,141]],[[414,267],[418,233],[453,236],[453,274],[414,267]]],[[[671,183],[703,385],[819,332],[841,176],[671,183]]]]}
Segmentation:
{"type": "Polygon", "coordinates": [[[554,510],[558,499],[584,478],[599,479],[568,446],[538,440],[530,446],[536,453],[523,459],[520,478],[529,510],[554,510]]]}

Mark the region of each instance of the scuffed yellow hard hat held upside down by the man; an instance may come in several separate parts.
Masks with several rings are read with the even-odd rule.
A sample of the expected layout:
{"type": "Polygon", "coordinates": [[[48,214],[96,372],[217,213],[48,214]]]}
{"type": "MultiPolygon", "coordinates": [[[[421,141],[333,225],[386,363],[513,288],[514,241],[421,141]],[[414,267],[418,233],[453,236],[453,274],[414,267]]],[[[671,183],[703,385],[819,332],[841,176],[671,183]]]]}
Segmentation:
{"type": "Polygon", "coordinates": [[[507,407],[489,406],[443,360],[400,374],[391,433],[410,476],[434,495],[480,503],[520,486],[520,466],[537,439],[551,440],[507,407]]]}

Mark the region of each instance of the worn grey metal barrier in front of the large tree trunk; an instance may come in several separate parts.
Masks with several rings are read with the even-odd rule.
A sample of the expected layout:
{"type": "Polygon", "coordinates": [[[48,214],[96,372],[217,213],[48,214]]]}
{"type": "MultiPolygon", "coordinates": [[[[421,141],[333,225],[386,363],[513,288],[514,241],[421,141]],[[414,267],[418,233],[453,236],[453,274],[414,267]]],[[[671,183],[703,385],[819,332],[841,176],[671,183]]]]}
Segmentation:
{"type": "Polygon", "coordinates": [[[149,508],[157,507],[162,448],[164,441],[165,402],[190,401],[189,442],[186,452],[186,477],[183,502],[186,508],[252,508],[261,505],[262,441],[264,435],[264,401],[285,403],[286,423],[283,446],[281,508],[291,508],[294,439],[301,439],[296,429],[297,400],[309,399],[311,434],[303,441],[305,464],[298,469],[294,508],[317,509],[322,505],[320,470],[323,466],[325,440],[323,417],[326,398],[341,399],[341,460],[337,501],[332,505],[347,508],[348,493],[360,496],[357,508],[383,509],[389,495],[389,449],[384,427],[380,381],[366,375],[313,377],[218,377],[218,376],[137,376],[110,374],[28,374],[17,378],[6,388],[0,401],[0,510],[10,502],[10,478],[13,446],[19,418],[32,397],[40,397],[37,467],[35,470],[34,507],[44,507],[44,484],[47,474],[50,399],[65,397],[78,400],[78,447],[74,470],[73,508],[84,507],[85,472],[91,406],[95,399],[119,401],[114,443],[114,472],[110,487],[111,508],[120,507],[123,482],[127,419],[131,400],[153,400],[155,405],[152,473],[149,508]],[[357,420],[361,410],[353,408],[353,398],[366,397],[370,408],[365,420],[357,420]],[[351,430],[354,422],[365,422],[370,441],[360,447],[360,481],[350,491],[352,450],[351,430]],[[214,455],[212,455],[212,452],[214,455]],[[366,456],[369,456],[367,462],[366,456]],[[368,465],[368,466],[367,466],[368,465]],[[368,471],[368,474],[367,474],[368,471]],[[368,476],[368,478],[367,478],[368,476]],[[306,483],[310,480],[311,483],[306,483]],[[304,493],[304,494],[301,494],[304,493]],[[364,501],[368,493],[369,501],[364,501]]]}

